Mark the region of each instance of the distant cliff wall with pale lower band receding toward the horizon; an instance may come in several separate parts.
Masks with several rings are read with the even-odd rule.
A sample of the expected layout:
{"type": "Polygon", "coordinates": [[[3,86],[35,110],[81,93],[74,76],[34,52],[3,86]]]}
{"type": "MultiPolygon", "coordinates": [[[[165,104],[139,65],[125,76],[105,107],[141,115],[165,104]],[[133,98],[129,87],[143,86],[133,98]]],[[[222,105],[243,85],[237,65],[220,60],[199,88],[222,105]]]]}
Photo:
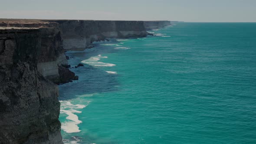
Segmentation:
{"type": "Polygon", "coordinates": [[[170,25],[170,21],[107,21],[107,20],[50,20],[60,24],[63,48],[84,50],[94,41],[106,38],[147,36],[146,30],[170,25]]]}

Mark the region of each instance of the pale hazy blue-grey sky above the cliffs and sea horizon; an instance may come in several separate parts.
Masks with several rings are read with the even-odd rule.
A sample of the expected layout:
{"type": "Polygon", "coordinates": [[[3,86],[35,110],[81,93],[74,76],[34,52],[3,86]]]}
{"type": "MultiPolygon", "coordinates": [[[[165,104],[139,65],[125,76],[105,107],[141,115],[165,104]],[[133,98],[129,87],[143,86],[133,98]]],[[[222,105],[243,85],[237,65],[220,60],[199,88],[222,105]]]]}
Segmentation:
{"type": "Polygon", "coordinates": [[[256,0],[0,0],[0,18],[256,22],[256,0]]]}

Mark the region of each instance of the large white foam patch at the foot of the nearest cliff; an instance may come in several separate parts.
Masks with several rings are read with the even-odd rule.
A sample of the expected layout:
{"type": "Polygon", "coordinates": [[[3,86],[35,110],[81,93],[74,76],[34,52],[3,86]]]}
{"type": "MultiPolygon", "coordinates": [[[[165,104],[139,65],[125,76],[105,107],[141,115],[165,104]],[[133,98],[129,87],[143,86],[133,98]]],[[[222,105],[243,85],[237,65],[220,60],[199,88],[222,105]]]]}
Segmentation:
{"type": "Polygon", "coordinates": [[[67,133],[79,132],[80,130],[78,124],[82,123],[82,121],[79,120],[75,113],[81,113],[82,111],[78,111],[77,109],[85,108],[87,105],[89,105],[90,101],[87,102],[87,105],[72,105],[70,101],[59,102],[61,103],[60,113],[68,115],[66,117],[68,121],[62,123],[62,130],[67,133]]]}

